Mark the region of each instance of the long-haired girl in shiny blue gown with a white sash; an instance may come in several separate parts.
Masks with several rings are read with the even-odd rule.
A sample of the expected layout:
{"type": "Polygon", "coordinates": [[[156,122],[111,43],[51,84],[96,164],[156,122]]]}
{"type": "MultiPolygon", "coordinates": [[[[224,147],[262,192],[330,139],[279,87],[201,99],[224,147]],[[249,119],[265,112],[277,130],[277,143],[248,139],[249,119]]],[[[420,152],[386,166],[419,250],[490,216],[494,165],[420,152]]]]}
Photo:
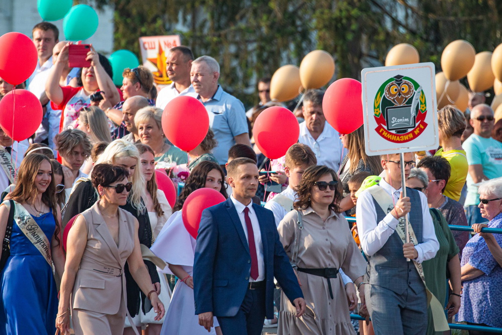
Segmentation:
{"type": "MultiPolygon", "coordinates": [[[[61,209],[46,156],[34,153],[23,160],[10,198],[15,201],[15,212],[11,256],[0,278],[0,334],[52,335],[58,308],[52,269],[60,277],[65,260],[59,240],[61,209]]],[[[0,206],[2,240],[9,210],[6,200],[0,206]]]]}

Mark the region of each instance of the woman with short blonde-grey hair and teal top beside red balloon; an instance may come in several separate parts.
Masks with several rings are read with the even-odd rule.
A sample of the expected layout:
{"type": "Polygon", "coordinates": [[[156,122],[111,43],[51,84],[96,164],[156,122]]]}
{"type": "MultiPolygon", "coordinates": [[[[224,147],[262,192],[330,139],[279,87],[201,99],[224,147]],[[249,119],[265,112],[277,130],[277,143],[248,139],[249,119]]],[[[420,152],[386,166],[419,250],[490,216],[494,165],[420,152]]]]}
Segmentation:
{"type": "Polygon", "coordinates": [[[166,143],[166,137],[162,131],[162,109],[156,107],[143,107],[138,110],[134,117],[134,123],[138,128],[138,136],[141,144],[148,145],[154,151],[156,162],[164,162],[169,167],[188,163],[188,154],[174,145],[166,143]]]}

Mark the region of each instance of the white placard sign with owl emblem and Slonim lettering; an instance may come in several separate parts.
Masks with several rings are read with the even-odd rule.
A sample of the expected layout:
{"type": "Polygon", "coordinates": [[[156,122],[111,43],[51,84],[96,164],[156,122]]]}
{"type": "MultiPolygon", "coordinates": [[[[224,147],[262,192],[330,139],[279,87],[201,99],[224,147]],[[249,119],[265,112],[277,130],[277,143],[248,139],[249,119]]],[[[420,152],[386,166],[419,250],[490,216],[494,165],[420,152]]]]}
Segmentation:
{"type": "Polygon", "coordinates": [[[437,149],[433,63],[366,68],[361,79],[367,155],[437,149]]]}

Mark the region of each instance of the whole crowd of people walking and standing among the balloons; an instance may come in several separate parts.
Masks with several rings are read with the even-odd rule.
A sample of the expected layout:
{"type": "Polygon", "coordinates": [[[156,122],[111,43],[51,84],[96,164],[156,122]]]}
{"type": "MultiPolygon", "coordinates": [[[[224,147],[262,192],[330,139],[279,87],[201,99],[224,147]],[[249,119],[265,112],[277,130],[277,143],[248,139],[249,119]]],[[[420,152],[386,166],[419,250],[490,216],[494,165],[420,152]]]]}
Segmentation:
{"type": "MultiPolygon", "coordinates": [[[[44,107],[40,128],[22,142],[0,128],[0,334],[438,334],[442,308],[451,322],[502,327],[502,235],[482,231],[502,229],[502,143],[484,95],[439,110],[440,148],[401,163],[367,156],[362,127],[338,134],[324,93],[307,90],[292,111],[298,143],[269,160],[252,125],[282,105],[270,78],[246,111],[214,58],[178,46],[158,94],[144,66],[118,88],[93,48],[89,67],[69,68],[58,35],[33,29],[26,87],[44,107]],[[183,95],[210,125],[189,152],[161,123],[183,95]],[[181,190],[174,206],[155,170],[181,190]],[[202,212],[195,238],[182,209],[201,188],[226,200],[202,212]]],[[[14,88],[0,78],[0,97],[14,88]]]]}

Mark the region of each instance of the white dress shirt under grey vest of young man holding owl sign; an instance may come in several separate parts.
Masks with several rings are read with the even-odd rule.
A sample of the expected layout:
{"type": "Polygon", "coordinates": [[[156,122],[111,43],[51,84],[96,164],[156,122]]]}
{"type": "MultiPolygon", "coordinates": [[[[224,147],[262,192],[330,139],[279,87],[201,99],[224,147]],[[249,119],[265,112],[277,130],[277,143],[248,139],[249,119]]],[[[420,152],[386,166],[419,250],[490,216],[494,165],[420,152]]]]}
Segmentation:
{"type": "MultiPolygon", "coordinates": [[[[385,179],[380,181],[380,186],[388,194],[393,196],[394,203],[399,200],[402,188],[395,189],[389,185],[385,179]]],[[[423,261],[436,256],[436,253],[439,250],[439,242],[434,232],[434,224],[429,212],[427,197],[422,192],[419,192],[419,194],[422,202],[422,217],[424,226],[422,231],[422,243],[415,246],[415,249],[418,252],[418,257],[415,261],[422,263],[423,261]]],[[[394,234],[396,227],[399,224],[399,220],[389,212],[384,219],[377,224],[376,208],[373,202],[373,197],[367,190],[359,194],[355,214],[362,250],[366,255],[372,256],[378,252],[387,242],[389,237],[394,234]]]]}

